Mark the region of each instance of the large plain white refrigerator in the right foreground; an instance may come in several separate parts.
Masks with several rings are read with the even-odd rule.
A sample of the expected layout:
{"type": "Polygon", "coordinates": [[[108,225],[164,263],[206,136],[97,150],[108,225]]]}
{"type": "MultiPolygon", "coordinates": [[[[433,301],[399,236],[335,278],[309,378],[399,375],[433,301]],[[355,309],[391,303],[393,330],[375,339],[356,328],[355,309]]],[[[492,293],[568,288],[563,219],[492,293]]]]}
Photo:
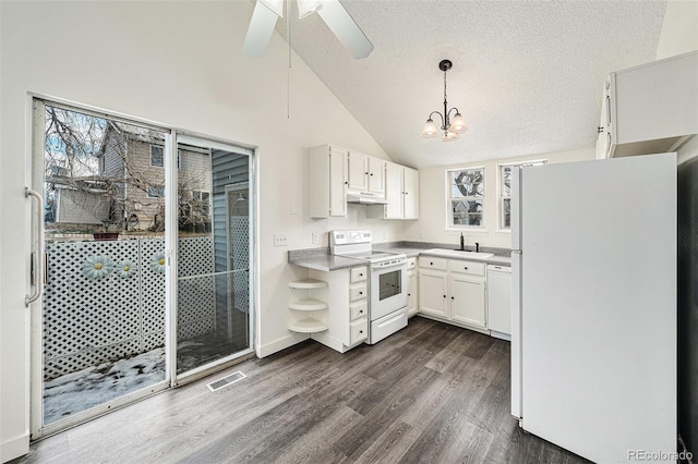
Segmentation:
{"type": "Polygon", "coordinates": [[[676,240],[675,154],[514,170],[526,431],[597,463],[676,461],[676,240]]]}

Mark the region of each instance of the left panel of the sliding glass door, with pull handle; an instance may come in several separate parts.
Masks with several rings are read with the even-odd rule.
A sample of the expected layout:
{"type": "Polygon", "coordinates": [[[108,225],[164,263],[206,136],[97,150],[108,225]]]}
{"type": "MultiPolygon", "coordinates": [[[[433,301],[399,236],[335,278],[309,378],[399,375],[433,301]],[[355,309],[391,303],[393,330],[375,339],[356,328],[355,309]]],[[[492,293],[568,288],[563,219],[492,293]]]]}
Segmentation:
{"type": "Polygon", "coordinates": [[[50,432],[169,387],[166,276],[153,262],[170,133],[38,100],[34,129],[45,254],[32,415],[50,432]]]}

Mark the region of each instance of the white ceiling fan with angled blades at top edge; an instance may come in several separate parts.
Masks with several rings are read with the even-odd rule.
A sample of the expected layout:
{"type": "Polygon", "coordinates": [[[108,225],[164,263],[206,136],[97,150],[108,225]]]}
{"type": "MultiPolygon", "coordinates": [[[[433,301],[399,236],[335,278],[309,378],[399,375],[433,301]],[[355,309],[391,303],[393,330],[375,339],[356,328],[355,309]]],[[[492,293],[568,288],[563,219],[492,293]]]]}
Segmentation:
{"type": "MultiPolygon", "coordinates": [[[[297,0],[297,4],[300,20],[317,13],[354,59],[366,58],[373,51],[373,44],[339,0],[297,0]]],[[[279,17],[284,17],[284,0],[257,0],[242,51],[251,57],[264,54],[279,17]]]]}

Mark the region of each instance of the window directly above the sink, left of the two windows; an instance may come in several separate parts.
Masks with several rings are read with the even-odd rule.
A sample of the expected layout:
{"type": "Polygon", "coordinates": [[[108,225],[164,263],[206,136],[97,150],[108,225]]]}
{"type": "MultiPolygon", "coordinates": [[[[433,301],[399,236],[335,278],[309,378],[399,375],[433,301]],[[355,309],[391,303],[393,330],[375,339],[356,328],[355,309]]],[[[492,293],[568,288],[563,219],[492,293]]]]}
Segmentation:
{"type": "Polygon", "coordinates": [[[484,168],[446,171],[448,228],[484,227],[484,168]]]}

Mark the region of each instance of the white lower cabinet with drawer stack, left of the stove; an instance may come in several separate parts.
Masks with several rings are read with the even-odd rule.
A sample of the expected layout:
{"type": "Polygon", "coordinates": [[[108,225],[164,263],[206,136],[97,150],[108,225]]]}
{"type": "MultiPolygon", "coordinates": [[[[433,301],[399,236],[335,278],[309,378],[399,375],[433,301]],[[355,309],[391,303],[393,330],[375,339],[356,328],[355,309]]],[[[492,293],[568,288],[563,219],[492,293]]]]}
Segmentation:
{"type": "Polygon", "coordinates": [[[368,268],[359,266],[334,271],[311,270],[311,278],[327,282],[327,330],[311,333],[313,340],[344,353],[369,338],[368,268]]]}

